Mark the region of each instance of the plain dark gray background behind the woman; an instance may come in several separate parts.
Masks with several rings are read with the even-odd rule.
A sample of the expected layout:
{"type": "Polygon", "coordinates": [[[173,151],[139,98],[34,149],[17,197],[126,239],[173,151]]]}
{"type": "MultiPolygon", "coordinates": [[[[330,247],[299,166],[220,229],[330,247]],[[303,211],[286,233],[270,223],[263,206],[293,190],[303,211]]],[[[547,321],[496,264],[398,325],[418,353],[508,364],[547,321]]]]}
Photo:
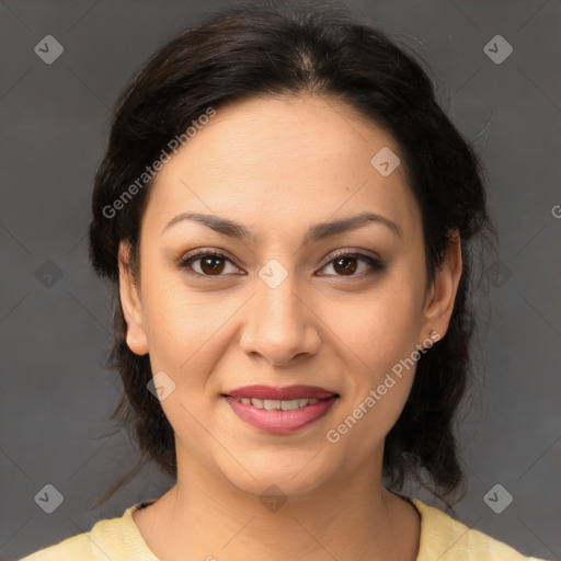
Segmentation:
{"type": "MultiPolygon", "coordinates": [[[[89,530],[171,484],[147,467],[90,510],[136,455],[125,432],[112,434],[107,421],[118,390],[116,375],[103,368],[110,300],[88,265],[85,232],[93,173],[118,92],[163,42],[221,4],[0,3],[3,558],[89,530]],[[65,49],[51,65],[34,51],[48,34],[65,49]],[[34,500],[47,483],[64,495],[53,514],[34,500]]],[[[469,490],[455,513],[526,554],[561,559],[561,219],[553,216],[561,204],[561,5],[348,5],[398,34],[434,68],[444,107],[483,158],[500,229],[500,266],[481,308],[490,321],[480,335],[482,397],[461,428],[469,490]],[[514,48],[500,65],[483,51],[496,34],[514,48]],[[514,497],[502,514],[483,501],[496,483],[514,497]]]]}

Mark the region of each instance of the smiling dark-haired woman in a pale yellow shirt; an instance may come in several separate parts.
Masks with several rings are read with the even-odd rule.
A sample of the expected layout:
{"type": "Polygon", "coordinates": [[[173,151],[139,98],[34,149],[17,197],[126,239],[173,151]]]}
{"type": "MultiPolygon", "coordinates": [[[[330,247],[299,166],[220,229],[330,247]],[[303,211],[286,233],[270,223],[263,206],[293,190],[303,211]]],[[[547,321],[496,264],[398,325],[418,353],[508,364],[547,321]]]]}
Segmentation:
{"type": "Polygon", "coordinates": [[[404,47],[341,9],[215,14],[122,94],[92,210],[115,413],[176,482],[26,560],[533,559],[400,494],[462,488],[494,231],[404,47]]]}

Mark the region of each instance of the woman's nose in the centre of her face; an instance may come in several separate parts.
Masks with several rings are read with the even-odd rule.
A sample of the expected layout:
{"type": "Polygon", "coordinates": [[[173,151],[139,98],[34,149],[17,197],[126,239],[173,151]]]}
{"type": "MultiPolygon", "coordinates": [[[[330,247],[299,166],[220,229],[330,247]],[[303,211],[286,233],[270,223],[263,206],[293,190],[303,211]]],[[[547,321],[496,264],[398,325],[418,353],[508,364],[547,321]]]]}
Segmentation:
{"type": "Polygon", "coordinates": [[[311,302],[295,290],[291,277],[288,275],[275,288],[260,280],[240,340],[245,354],[262,356],[276,367],[291,366],[314,355],[321,345],[318,330],[321,322],[311,302]]]}

